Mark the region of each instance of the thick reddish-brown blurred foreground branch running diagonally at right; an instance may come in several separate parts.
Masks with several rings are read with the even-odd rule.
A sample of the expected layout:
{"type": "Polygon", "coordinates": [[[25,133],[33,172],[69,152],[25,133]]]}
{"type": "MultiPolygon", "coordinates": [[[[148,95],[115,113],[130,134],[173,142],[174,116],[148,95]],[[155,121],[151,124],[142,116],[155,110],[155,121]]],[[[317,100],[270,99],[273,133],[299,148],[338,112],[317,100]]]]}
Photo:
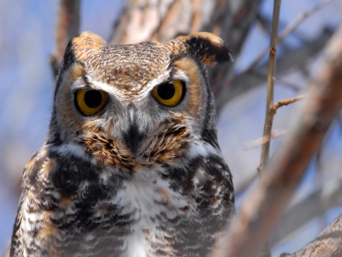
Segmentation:
{"type": "Polygon", "coordinates": [[[342,26],[326,48],[321,70],[309,87],[294,126],[273,154],[257,189],[243,204],[214,257],[253,256],[265,243],[342,107],[341,84],[342,26]]]}

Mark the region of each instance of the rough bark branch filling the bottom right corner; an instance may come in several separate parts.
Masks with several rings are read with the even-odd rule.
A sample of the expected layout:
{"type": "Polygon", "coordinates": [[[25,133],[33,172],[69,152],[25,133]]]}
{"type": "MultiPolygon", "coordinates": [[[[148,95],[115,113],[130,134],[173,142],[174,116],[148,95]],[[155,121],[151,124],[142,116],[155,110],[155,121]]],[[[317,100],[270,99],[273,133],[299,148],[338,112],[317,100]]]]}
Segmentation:
{"type": "Polygon", "coordinates": [[[342,256],[342,215],[324,229],[321,234],[294,254],[282,253],[280,257],[342,256]]]}

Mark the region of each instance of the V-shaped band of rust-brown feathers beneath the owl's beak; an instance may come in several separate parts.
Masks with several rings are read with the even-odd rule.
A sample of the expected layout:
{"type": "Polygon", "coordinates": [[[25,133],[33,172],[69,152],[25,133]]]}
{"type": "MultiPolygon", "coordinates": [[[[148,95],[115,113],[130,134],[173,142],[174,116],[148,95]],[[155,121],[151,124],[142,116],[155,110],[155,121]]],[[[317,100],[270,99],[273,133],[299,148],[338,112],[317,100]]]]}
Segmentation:
{"type": "Polygon", "coordinates": [[[93,133],[90,137],[81,137],[80,142],[98,162],[135,172],[138,169],[177,162],[182,158],[191,135],[181,124],[181,120],[165,120],[159,130],[142,142],[136,155],[133,155],[122,142],[112,140],[102,132],[93,133]]]}

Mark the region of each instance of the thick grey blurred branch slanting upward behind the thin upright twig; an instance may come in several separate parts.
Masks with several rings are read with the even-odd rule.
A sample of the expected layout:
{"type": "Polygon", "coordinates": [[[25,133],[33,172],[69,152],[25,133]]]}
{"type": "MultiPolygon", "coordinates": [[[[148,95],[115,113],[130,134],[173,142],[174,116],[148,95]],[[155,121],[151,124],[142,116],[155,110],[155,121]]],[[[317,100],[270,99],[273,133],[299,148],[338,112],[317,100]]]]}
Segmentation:
{"type": "MultiPolygon", "coordinates": [[[[292,51],[284,51],[277,60],[276,74],[280,75],[286,71],[305,65],[307,61],[321,51],[332,32],[328,29],[324,30],[316,40],[308,42],[306,45],[292,51]]],[[[227,80],[222,90],[214,90],[217,112],[222,110],[222,107],[229,101],[237,98],[239,95],[246,93],[249,90],[263,85],[264,78],[259,74],[266,74],[268,63],[260,65],[251,73],[237,75],[233,80],[227,80]],[[257,74],[257,75],[256,75],[257,74]]]]}

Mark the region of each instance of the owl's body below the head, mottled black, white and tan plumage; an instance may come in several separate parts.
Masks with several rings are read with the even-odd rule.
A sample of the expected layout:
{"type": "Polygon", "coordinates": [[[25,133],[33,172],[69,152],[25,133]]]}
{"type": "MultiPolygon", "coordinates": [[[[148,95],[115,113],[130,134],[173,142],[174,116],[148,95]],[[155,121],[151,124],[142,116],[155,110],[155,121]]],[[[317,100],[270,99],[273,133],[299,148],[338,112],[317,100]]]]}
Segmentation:
{"type": "Polygon", "coordinates": [[[187,168],[122,175],[46,145],[24,172],[11,256],[206,256],[234,191],[217,150],[192,148],[187,168]]]}

